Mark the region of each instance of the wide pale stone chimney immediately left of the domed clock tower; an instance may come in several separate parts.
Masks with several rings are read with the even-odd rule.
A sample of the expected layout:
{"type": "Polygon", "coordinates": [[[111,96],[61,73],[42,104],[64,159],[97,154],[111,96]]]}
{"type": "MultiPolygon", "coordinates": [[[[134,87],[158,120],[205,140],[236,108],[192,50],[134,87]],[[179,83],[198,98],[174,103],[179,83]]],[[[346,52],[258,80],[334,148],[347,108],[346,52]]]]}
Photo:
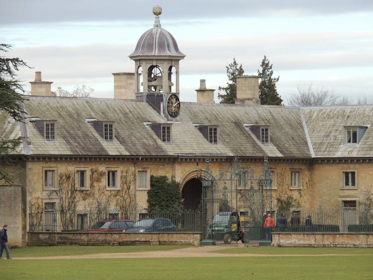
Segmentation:
{"type": "Polygon", "coordinates": [[[112,73],[114,76],[114,98],[135,99],[135,73],[112,73]]]}

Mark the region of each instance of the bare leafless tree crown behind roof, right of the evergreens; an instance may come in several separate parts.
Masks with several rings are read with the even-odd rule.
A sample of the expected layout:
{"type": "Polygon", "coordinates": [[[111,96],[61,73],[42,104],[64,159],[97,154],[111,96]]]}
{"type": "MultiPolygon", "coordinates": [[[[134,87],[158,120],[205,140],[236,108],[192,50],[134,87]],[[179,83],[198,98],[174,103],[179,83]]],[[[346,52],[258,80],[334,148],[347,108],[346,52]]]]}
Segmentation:
{"type": "Polygon", "coordinates": [[[334,90],[314,88],[310,84],[299,86],[298,93],[291,94],[288,102],[292,106],[329,106],[338,104],[338,96],[334,94],[334,90]]]}

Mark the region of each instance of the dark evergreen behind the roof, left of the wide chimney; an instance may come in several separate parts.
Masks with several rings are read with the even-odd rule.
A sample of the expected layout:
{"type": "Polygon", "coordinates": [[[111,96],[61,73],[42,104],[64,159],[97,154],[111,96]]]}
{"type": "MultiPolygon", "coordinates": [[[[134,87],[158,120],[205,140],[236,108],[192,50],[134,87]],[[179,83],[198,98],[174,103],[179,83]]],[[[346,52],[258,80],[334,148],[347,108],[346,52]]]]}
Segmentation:
{"type": "Polygon", "coordinates": [[[238,66],[236,59],[233,58],[233,62],[230,63],[227,68],[228,83],[226,87],[219,87],[218,98],[220,103],[234,104],[237,98],[237,76],[244,75],[242,64],[238,66]],[[220,93],[223,91],[223,93],[220,93]]]}

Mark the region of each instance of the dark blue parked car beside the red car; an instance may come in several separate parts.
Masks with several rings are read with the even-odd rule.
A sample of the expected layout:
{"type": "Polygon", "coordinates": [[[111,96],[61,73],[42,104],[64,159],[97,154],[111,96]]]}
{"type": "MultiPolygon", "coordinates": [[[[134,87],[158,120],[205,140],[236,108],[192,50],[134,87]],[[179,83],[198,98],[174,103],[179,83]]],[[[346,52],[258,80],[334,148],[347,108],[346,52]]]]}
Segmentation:
{"type": "Polygon", "coordinates": [[[176,226],[170,219],[156,218],[156,219],[142,219],[134,222],[134,224],[123,230],[125,232],[158,232],[158,231],[176,231],[176,226]]]}

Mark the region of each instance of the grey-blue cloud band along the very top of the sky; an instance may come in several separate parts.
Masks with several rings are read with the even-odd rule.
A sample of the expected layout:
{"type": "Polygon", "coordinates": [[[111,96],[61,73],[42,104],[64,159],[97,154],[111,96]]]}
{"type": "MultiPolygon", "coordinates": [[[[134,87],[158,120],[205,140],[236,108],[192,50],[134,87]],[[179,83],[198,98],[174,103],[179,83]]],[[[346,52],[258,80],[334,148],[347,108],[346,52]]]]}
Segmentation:
{"type": "MultiPolygon", "coordinates": [[[[273,16],[274,14],[336,14],[372,11],[372,0],[158,0],[168,18],[224,18],[232,16],[273,16]]],[[[5,0],[0,23],[62,21],[144,20],[149,18],[153,0],[5,0]]]]}

